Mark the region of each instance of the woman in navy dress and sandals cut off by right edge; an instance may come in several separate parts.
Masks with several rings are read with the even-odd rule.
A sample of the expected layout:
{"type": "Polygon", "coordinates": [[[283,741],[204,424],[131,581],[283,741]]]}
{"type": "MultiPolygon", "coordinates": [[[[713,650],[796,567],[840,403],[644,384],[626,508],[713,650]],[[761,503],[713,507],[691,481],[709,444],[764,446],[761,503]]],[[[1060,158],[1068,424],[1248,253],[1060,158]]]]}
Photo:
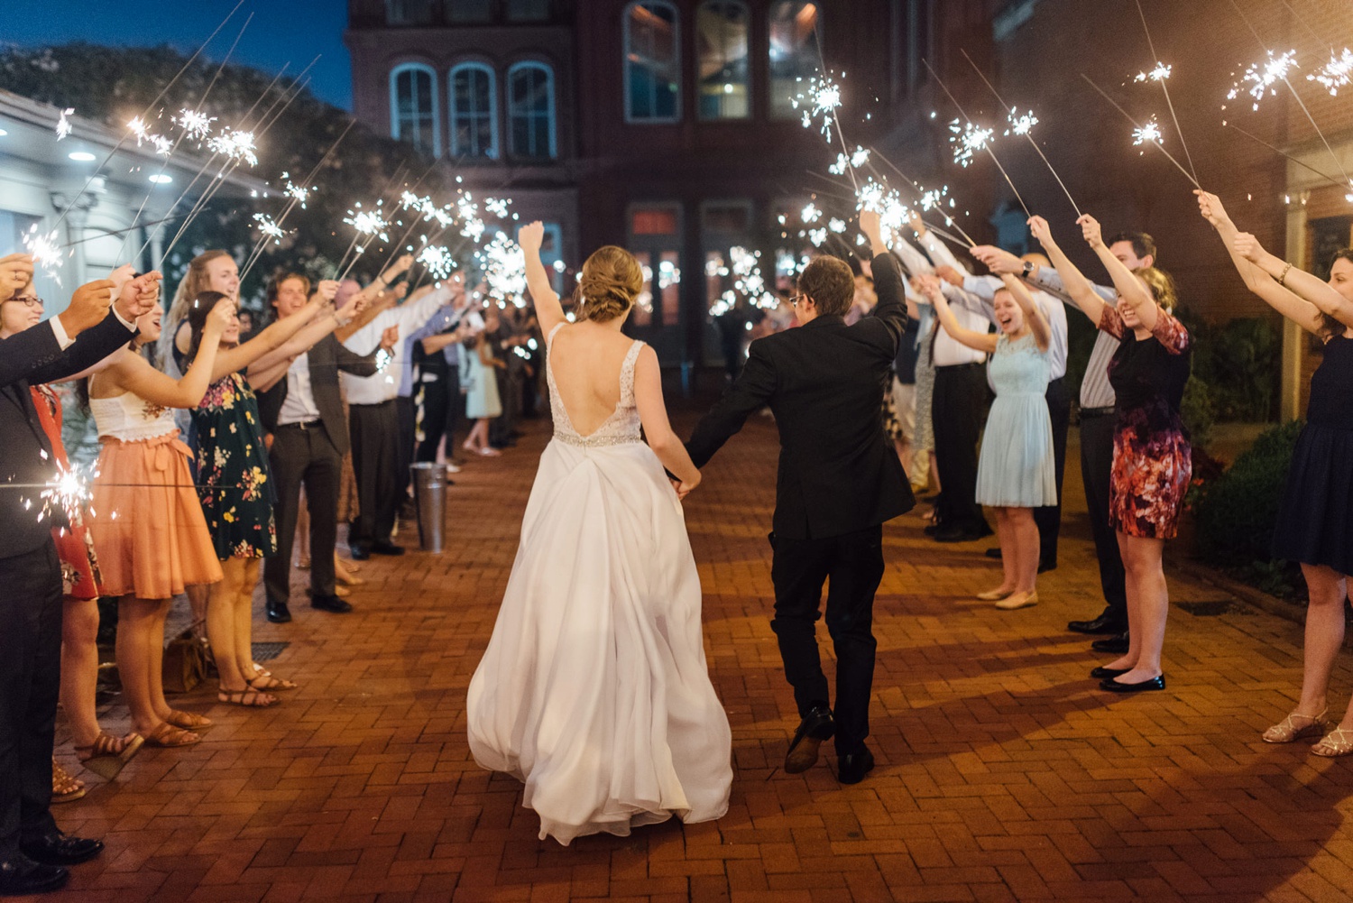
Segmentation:
{"type": "MultiPolygon", "coordinates": [[[[1321,736],[1329,727],[1326,695],[1344,646],[1344,598],[1353,574],[1353,248],[1334,256],[1326,283],[1237,230],[1216,195],[1195,194],[1249,290],[1325,343],[1273,528],[1273,556],[1300,562],[1311,597],[1302,699],[1264,732],[1269,743],[1291,743],[1321,736]]],[[[1311,751],[1353,753],[1353,704],[1311,751]]]]}

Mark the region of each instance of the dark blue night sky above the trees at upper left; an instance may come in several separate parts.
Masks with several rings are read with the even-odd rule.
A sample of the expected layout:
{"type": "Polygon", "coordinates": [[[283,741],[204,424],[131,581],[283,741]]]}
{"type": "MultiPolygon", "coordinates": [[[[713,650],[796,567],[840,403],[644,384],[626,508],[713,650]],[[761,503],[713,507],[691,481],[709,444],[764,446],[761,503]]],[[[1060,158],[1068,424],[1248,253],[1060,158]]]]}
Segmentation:
{"type": "MultiPolygon", "coordinates": [[[[42,46],[87,41],[122,46],[169,43],[191,54],[235,5],[237,0],[5,0],[0,42],[42,46]]],[[[245,0],[234,18],[207,47],[219,61],[239,34],[248,15],[253,22],[230,61],[276,73],[291,62],[298,72],[323,54],[310,70],[310,89],[345,110],[352,107],[352,73],[342,31],[346,0],[245,0]]]]}

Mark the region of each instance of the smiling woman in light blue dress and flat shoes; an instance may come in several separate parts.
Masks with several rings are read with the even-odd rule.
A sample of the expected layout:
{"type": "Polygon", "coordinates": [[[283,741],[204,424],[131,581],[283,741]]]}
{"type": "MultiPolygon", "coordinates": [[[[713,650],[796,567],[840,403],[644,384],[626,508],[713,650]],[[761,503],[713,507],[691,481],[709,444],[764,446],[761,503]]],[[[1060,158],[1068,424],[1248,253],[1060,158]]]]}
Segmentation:
{"type": "Polygon", "coordinates": [[[996,512],[1004,579],[980,593],[997,608],[1027,608],[1038,602],[1038,527],[1034,509],[1057,504],[1053,464],[1053,424],[1047,413],[1050,375],[1047,345],[1051,329],[1024,284],[1004,276],[996,291],[999,333],[980,333],[958,325],[938,282],[927,283],[940,325],[957,341],[992,355],[990,378],[996,401],[986,418],[982,454],[977,463],[977,504],[996,512]]]}

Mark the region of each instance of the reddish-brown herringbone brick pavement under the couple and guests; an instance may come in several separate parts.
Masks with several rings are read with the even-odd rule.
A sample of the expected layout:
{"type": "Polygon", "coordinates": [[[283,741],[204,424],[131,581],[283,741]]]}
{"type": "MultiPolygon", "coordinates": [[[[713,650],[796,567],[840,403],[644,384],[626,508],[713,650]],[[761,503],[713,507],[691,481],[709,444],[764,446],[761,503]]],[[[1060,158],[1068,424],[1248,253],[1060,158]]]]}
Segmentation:
{"type": "MultiPolygon", "coordinates": [[[[777,770],[796,718],[769,627],[775,439],[762,418],[686,508],[733,726],[728,815],[568,849],[538,841],[520,785],[469,758],[464,696],[544,441],[537,425],[467,466],[448,551],[368,562],[356,613],[260,619],[257,640],[291,643],[275,669],[302,688],[284,704],[245,712],[198,690],[181,704],[216,720],[200,746],[146,749],[111,787],[85,776],[89,796],[58,816],[108,849],[47,899],[1353,899],[1353,762],[1258,738],[1296,692],[1298,625],[1176,609],[1168,692],[1120,699],[1086,677],[1097,659],[1063,631],[1099,609],[1074,464],[1072,535],[1036,608],[971,598],[996,574],[985,543],[939,547],[915,516],[886,528],[878,768],[852,788],[827,764],[777,770]]],[[[1172,594],[1220,598],[1177,577],[1172,594]]],[[[1345,661],[1333,699],[1350,686],[1345,661]]]]}

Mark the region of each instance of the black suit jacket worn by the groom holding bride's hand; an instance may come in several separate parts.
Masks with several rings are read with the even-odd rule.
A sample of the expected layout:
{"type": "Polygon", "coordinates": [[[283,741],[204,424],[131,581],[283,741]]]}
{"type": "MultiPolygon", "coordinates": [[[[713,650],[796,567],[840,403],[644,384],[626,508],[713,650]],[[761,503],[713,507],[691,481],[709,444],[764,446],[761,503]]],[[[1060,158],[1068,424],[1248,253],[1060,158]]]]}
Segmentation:
{"type": "Polygon", "coordinates": [[[743,375],[686,443],[704,467],[750,414],[770,405],[781,445],[777,536],[840,536],[916,504],[882,425],[889,368],[907,326],[902,276],[892,255],[874,257],[873,272],[874,315],[854,326],[820,315],[754,341],[743,375]]]}

